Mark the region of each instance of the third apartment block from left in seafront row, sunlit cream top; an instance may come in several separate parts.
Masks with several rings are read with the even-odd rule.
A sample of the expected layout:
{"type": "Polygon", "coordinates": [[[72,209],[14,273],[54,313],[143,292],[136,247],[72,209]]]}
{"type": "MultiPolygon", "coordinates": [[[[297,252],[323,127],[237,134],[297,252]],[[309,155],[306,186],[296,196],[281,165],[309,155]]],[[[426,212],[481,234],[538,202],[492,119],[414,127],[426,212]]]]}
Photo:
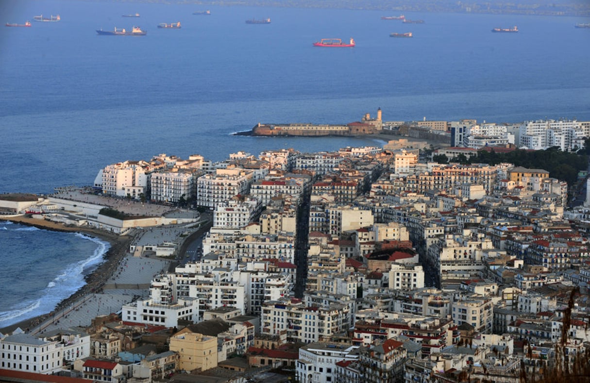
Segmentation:
{"type": "Polygon", "coordinates": [[[199,206],[217,207],[238,194],[248,194],[254,171],[217,169],[215,174],[205,174],[196,183],[196,203],[199,206]]]}

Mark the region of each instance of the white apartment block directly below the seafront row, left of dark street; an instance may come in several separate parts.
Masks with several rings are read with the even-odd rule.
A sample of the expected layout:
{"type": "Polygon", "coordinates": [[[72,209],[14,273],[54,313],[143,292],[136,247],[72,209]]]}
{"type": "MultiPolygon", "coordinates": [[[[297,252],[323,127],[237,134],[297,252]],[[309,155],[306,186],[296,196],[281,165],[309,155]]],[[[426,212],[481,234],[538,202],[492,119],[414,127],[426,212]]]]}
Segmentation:
{"type": "Polygon", "coordinates": [[[260,213],[261,204],[257,199],[231,199],[221,202],[213,213],[213,227],[241,229],[260,213]]]}

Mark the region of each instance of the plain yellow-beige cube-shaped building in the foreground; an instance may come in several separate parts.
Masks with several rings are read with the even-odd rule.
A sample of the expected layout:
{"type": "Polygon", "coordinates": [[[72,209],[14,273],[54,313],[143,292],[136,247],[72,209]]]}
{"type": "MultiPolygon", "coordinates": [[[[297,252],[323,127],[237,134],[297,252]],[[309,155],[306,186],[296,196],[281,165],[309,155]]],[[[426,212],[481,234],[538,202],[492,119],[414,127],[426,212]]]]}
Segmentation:
{"type": "Polygon", "coordinates": [[[170,338],[170,351],[178,352],[179,369],[205,371],[217,367],[217,336],[181,330],[170,338]]]}

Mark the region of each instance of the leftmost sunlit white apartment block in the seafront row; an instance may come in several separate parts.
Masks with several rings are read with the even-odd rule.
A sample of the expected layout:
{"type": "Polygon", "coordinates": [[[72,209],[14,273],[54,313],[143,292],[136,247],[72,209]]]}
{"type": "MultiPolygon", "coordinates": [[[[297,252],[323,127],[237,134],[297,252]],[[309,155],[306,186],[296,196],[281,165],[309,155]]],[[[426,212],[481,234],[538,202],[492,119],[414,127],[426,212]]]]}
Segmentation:
{"type": "Polygon", "coordinates": [[[124,161],[101,169],[94,184],[101,186],[103,194],[127,197],[129,193],[137,199],[140,194],[146,192],[150,171],[153,171],[153,168],[146,161],[124,161]]]}

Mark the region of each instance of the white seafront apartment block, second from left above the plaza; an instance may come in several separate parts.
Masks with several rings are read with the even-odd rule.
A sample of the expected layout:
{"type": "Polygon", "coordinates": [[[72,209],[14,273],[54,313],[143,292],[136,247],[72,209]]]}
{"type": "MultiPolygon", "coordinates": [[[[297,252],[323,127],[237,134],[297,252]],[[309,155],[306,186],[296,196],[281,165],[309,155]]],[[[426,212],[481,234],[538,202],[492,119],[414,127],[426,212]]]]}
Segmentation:
{"type": "Polygon", "coordinates": [[[151,199],[156,202],[178,203],[196,195],[194,171],[159,171],[150,176],[151,199]]]}

